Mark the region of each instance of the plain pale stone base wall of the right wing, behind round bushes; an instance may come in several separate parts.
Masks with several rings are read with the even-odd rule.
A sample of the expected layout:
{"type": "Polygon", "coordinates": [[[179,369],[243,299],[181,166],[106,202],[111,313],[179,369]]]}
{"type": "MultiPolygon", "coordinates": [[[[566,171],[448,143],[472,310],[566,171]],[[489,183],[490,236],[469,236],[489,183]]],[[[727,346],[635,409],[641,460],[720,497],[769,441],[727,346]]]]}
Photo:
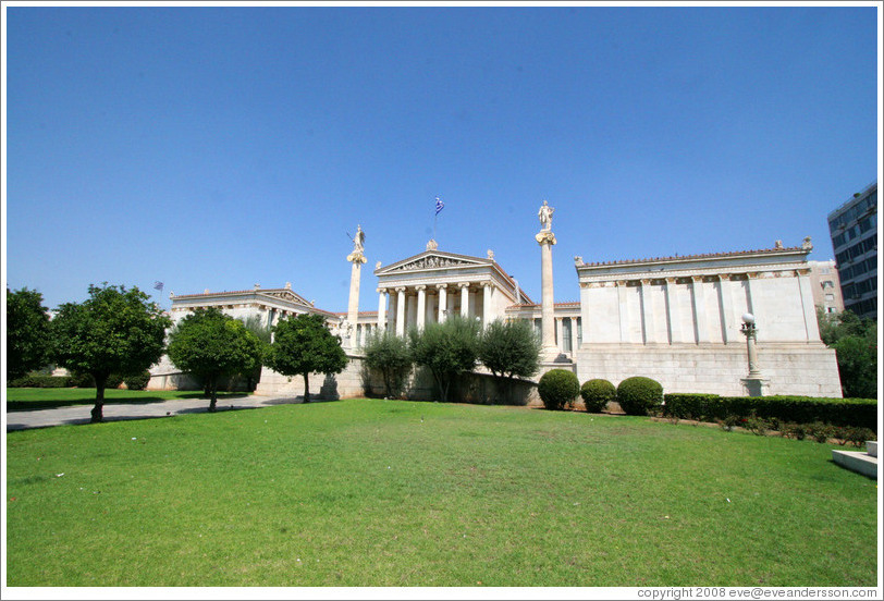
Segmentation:
{"type": "MultiPolygon", "coordinates": [[[[769,380],[765,395],[840,397],[835,352],[822,344],[760,344],[759,365],[769,380]]],[[[614,385],[633,376],[653,378],[664,392],[745,396],[746,345],[585,345],[577,353],[580,382],[592,378],[614,385]]]]}

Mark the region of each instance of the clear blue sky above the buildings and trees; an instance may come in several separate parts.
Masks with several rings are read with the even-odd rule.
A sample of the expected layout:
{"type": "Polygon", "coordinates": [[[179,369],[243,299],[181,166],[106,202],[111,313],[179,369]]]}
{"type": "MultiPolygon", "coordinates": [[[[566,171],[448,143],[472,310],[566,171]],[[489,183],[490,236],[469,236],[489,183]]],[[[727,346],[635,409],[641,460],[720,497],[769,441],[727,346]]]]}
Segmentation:
{"type": "Polygon", "coordinates": [[[556,302],[586,261],[800,245],[879,175],[879,8],[8,8],[5,281],[293,289],[486,256],[556,302]]]}

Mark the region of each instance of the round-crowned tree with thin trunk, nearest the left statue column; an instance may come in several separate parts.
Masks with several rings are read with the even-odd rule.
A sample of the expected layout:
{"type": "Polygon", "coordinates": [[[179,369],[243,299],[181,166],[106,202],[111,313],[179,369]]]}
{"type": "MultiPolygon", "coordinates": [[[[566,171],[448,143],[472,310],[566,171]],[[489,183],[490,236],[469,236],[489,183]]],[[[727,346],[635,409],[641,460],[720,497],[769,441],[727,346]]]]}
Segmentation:
{"type": "Polygon", "coordinates": [[[347,356],[341,336],[326,328],[321,315],[300,314],[281,319],[273,327],[273,343],[266,365],[283,376],[304,377],[304,402],[310,402],[310,373],[341,373],[347,356]]]}

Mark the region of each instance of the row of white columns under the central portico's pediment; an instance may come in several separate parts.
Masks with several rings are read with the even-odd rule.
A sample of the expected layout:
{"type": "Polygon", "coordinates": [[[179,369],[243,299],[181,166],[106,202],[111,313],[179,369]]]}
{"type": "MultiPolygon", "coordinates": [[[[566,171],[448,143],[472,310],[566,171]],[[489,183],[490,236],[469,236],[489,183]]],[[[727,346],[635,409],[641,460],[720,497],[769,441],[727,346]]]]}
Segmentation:
{"type": "MultiPolygon", "coordinates": [[[[449,300],[449,286],[456,286],[459,289],[461,295],[461,316],[469,317],[470,314],[470,287],[474,286],[475,283],[470,282],[458,282],[457,284],[435,284],[437,295],[438,295],[438,309],[437,309],[437,321],[443,322],[445,321],[445,316],[447,312],[454,308],[454,303],[449,300]]],[[[482,287],[482,324],[487,326],[491,320],[494,319],[493,310],[492,310],[492,296],[494,292],[494,287],[491,282],[480,282],[479,285],[482,287]]],[[[395,331],[396,335],[405,335],[405,327],[406,327],[406,312],[414,311],[415,314],[415,324],[418,329],[423,329],[427,323],[427,284],[418,284],[414,287],[408,286],[395,286],[392,289],[392,292],[396,294],[395,296],[395,331]],[[414,291],[416,293],[416,306],[415,307],[406,307],[406,299],[409,299],[409,305],[415,300],[415,296],[410,295],[409,292],[414,291]]],[[[432,289],[430,289],[432,290],[432,289]]],[[[388,299],[390,297],[391,291],[389,289],[379,287],[378,289],[378,327],[384,328],[386,323],[386,307],[388,307],[388,299]]],[[[455,292],[458,294],[458,292],[455,292]]],[[[474,297],[475,299],[475,297],[474,297]]],[[[391,300],[392,306],[392,300],[391,300]]],[[[391,307],[392,308],[392,307],[391,307]]],[[[476,309],[474,309],[476,312],[476,309]]]]}

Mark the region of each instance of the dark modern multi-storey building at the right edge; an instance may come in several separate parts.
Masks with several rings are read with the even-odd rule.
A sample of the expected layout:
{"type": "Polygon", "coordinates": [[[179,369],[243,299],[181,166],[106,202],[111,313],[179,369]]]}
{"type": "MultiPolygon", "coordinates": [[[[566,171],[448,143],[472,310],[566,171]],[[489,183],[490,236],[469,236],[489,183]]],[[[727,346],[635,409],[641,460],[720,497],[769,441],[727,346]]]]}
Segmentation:
{"type": "Polygon", "coordinates": [[[877,319],[877,182],[828,213],[844,308],[877,319]]]}

